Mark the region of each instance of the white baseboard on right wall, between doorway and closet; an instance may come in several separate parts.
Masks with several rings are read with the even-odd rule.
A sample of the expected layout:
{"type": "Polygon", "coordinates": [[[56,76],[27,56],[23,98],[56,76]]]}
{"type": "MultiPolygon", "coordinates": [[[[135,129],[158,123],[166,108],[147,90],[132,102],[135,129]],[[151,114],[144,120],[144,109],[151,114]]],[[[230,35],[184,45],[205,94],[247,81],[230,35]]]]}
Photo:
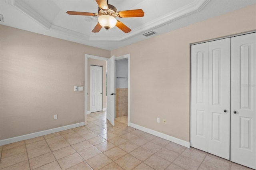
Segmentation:
{"type": "Polygon", "coordinates": [[[173,136],[169,136],[167,134],[157,132],[157,131],[149,129],[149,128],[145,128],[145,127],[142,127],[140,125],[136,125],[134,123],[129,123],[129,126],[133,127],[133,128],[136,128],[136,129],[139,129],[139,130],[142,130],[142,131],[147,132],[149,134],[153,134],[153,135],[158,136],[160,138],[169,140],[169,141],[174,142],[176,144],[180,144],[180,145],[185,146],[187,148],[190,148],[190,142],[187,142],[185,140],[181,140],[181,139],[175,138],[173,136]]]}

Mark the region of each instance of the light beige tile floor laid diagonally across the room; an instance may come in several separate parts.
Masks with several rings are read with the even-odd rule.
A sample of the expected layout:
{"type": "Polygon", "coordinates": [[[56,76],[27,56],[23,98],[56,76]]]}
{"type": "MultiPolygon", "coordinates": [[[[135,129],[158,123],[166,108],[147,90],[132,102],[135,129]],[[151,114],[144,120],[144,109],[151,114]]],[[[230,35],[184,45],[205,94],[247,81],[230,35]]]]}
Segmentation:
{"type": "Polygon", "coordinates": [[[1,170],[244,170],[126,124],[88,115],[88,125],[0,147],[1,170]]]}

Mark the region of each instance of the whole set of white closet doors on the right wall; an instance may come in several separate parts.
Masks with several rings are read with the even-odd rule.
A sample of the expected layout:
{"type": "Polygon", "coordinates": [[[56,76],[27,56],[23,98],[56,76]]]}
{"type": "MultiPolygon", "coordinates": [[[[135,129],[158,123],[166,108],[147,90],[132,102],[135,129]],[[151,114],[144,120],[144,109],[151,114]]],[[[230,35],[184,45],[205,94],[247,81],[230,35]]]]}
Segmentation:
{"type": "Polygon", "coordinates": [[[191,46],[190,106],[192,147],[256,169],[256,33],[191,46]]]}

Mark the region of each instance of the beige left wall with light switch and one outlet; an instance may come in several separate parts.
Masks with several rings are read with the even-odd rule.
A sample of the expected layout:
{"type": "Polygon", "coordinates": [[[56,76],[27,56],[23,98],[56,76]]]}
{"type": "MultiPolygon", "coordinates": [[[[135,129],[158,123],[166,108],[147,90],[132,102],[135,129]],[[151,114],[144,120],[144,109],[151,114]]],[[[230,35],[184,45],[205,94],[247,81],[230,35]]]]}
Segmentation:
{"type": "Polygon", "coordinates": [[[2,25],[0,35],[0,139],[84,122],[84,55],[110,51],[2,25]]]}

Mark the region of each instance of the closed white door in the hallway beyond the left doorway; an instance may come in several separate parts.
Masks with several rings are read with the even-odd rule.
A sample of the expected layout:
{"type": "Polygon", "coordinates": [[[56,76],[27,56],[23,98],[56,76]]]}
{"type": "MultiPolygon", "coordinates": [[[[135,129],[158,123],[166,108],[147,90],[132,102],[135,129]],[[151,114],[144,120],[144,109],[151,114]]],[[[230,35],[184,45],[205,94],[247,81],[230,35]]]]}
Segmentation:
{"type": "Polygon", "coordinates": [[[102,67],[90,66],[90,111],[102,111],[102,67]]]}

